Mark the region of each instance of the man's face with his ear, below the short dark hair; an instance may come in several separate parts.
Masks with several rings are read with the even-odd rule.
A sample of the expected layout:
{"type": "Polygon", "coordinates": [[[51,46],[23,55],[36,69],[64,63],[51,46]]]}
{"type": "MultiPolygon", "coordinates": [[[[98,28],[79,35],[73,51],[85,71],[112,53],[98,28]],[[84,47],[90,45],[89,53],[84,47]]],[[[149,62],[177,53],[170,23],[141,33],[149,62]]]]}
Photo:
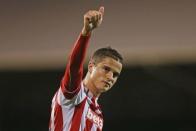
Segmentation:
{"type": "Polygon", "coordinates": [[[103,58],[99,63],[89,64],[90,79],[93,87],[100,93],[108,91],[117,81],[122,64],[111,57],[103,58]]]}

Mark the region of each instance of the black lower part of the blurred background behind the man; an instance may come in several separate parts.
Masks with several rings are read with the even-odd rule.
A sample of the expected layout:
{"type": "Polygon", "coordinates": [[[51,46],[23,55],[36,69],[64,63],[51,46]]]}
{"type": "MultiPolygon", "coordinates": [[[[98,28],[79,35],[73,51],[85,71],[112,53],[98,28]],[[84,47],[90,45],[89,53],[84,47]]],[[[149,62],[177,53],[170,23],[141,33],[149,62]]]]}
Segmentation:
{"type": "MultiPolygon", "coordinates": [[[[64,69],[1,71],[1,131],[48,130],[64,69]]],[[[104,131],[194,131],[196,64],[126,67],[99,101],[104,131]]]]}

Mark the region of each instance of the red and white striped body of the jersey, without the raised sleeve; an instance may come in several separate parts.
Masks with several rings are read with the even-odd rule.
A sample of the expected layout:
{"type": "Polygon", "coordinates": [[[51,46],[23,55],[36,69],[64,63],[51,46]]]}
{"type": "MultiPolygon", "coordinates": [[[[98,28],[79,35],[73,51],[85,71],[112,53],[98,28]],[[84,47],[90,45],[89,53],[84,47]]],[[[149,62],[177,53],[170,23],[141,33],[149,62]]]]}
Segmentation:
{"type": "Polygon", "coordinates": [[[52,100],[50,122],[50,131],[101,131],[103,127],[97,98],[83,84],[72,99],[66,99],[59,88],[52,100]]]}

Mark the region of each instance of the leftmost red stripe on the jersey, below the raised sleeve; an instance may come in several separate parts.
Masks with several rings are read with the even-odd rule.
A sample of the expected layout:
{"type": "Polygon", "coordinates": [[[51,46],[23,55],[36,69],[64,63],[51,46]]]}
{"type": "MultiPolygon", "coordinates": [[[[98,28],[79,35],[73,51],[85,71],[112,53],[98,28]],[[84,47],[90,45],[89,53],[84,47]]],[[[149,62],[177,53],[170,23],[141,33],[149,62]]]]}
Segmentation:
{"type": "Polygon", "coordinates": [[[54,112],[54,131],[62,131],[63,130],[63,116],[62,116],[62,108],[56,102],[54,112]]]}

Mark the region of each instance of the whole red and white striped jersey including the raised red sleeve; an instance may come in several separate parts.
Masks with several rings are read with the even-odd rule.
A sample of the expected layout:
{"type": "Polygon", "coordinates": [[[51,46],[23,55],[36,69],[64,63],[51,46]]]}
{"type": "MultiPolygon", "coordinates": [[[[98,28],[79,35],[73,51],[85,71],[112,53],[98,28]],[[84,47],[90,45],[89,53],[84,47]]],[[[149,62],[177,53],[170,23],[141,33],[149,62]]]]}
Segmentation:
{"type": "Polygon", "coordinates": [[[83,62],[90,36],[79,36],[52,100],[50,131],[102,131],[97,99],[82,83],[83,62]]]}

